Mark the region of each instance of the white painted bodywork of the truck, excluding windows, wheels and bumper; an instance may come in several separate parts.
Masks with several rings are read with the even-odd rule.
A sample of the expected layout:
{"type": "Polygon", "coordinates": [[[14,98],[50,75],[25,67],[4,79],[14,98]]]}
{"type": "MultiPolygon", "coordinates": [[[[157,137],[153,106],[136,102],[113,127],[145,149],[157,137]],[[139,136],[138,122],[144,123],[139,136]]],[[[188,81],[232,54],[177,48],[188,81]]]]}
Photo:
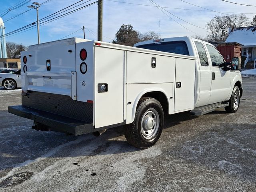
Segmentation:
{"type": "MultiPolygon", "coordinates": [[[[97,130],[132,123],[140,98],[150,92],[164,94],[167,112],[174,114],[226,101],[235,80],[242,84],[239,72],[224,71],[211,64],[201,66],[194,39],[165,40],[186,42],[190,56],[79,38],[30,46],[21,55],[27,56],[27,63],[22,62],[22,69],[25,65],[27,68],[22,70],[22,90],[70,96],[76,102],[91,103],[92,124],[97,130]],[[82,49],[87,52],[85,60],[80,58],[82,49]],[[155,68],[153,58],[156,58],[155,68]],[[47,60],[50,70],[46,68],[47,60]],[[80,71],[82,63],[86,64],[85,74],[80,71]],[[100,84],[107,84],[108,90],[99,92],[100,84]]],[[[206,49],[205,42],[196,41],[206,49]]]]}

